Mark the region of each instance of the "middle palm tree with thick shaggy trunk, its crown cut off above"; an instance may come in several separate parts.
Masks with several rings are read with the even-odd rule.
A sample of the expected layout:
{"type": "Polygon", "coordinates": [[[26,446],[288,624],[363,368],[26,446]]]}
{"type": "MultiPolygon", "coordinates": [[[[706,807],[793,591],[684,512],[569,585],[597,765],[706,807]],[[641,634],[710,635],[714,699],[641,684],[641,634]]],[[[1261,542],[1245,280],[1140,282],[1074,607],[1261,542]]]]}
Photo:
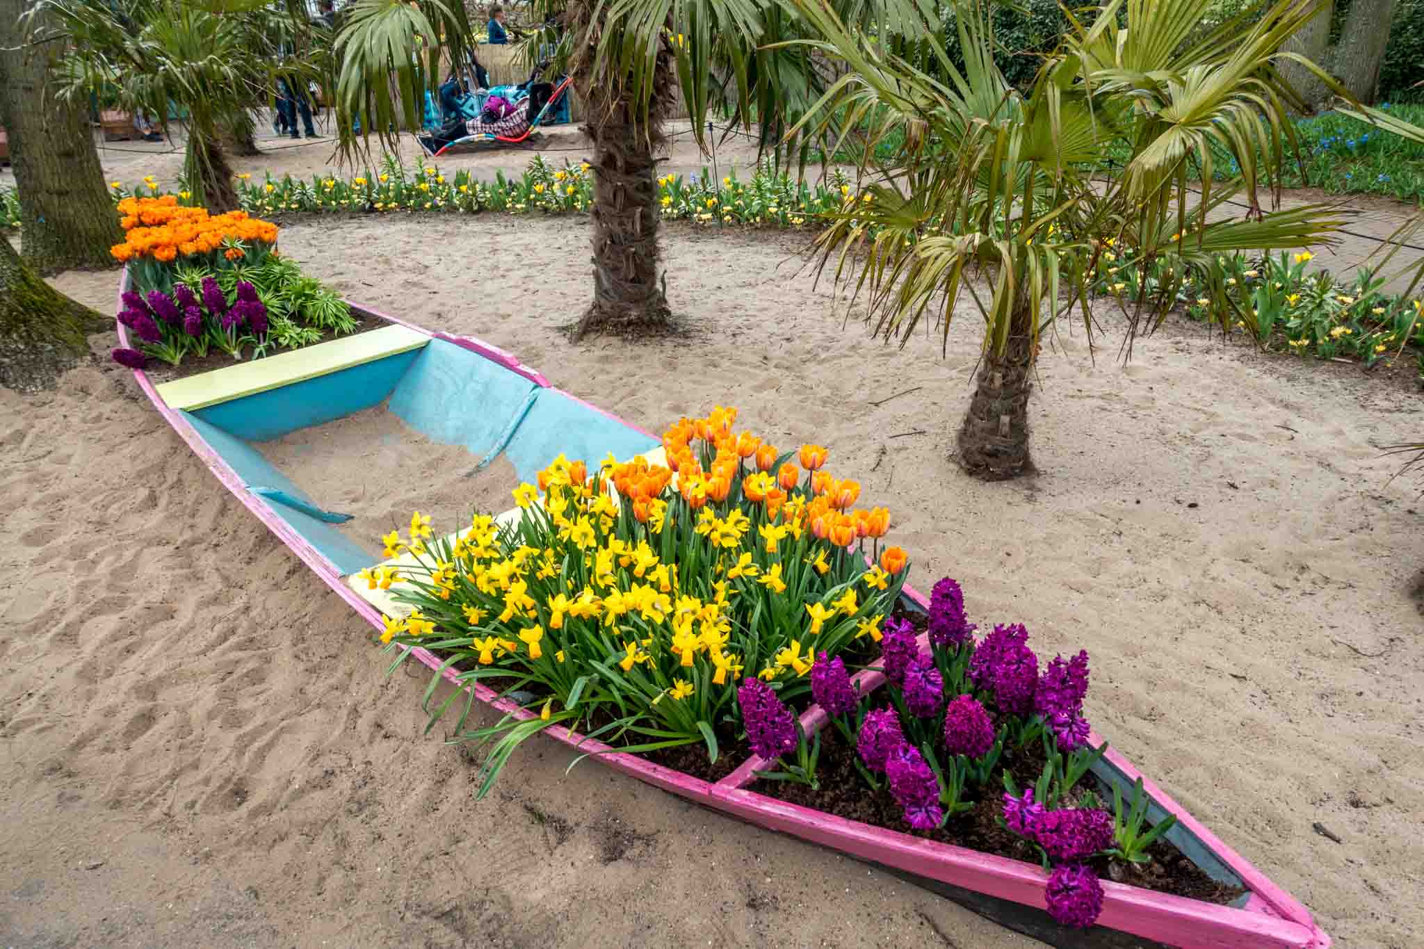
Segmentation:
{"type": "MultiPolygon", "coordinates": [[[[891,36],[901,21],[920,23],[924,6],[840,0],[837,9],[891,36]]],[[[554,68],[572,77],[592,142],[594,295],[574,336],[658,330],[669,307],[658,270],[656,154],[676,90],[703,147],[706,117],[722,112],[738,124],[756,120],[763,149],[782,158],[783,132],[816,104],[827,77],[807,47],[786,46],[805,38],[806,24],[779,0],[534,0],[533,13],[544,27],[525,41],[525,58],[555,50],[554,68]]],[[[468,44],[461,4],[356,0],[336,40],[343,151],[363,152],[372,137],[396,148],[403,129],[420,125],[441,54],[460,61],[468,44]]],[[[805,161],[812,144],[800,137],[790,151],[805,161]]]]}

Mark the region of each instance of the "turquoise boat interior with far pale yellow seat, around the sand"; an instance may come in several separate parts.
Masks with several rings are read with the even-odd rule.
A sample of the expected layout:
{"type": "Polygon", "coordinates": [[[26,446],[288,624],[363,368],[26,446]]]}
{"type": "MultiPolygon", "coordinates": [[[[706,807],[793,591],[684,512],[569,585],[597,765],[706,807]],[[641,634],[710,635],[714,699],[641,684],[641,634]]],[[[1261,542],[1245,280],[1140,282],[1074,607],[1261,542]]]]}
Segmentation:
{"type": "MultiPolygon", "coordinates": [[[[349,514],[312,497],[265,445],[384,407],[431,442],[470,455],[470,470],[497,460],[520,481],[557,455],[590,465],[652,451],[658,441],[562,393],[531,381],[486,356],[403,326],[189,376],[157,387],[169,408],[192,424],[238,474],[244,487],[343,573],[372,566],[369,546],[340,525],[349,514]],[[299,357],[299,359],[289,359],[299,357]]],[[[319,458],[312,464],[320,464],[319,458]]]]}

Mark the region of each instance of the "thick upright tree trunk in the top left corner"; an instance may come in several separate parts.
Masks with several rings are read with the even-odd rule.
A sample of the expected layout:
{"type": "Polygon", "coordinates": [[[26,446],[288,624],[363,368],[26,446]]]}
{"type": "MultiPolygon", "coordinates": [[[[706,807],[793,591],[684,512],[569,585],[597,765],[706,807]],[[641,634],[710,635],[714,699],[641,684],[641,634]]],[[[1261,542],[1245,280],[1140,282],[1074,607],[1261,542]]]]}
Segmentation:
{"type": "MultiPolygon", "coordinates": [[[[94,149],[87,110],[46,87],[61,43],[24,46],[23,0],[0,0],[0,121],[20,192],[24,258],[40,272],[110,267],[118,215],[94,149]]],[[[41,28],[36,31],[43,36],[41,28]]]]}

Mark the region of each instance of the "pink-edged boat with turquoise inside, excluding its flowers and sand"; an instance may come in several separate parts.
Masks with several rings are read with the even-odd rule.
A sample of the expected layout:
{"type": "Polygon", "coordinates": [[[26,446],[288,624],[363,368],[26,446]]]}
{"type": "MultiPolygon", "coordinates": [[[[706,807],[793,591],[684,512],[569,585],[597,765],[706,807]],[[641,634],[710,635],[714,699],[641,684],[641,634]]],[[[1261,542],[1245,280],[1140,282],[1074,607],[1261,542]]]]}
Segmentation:
{"type": "MultiPolygon", "coordinates": [[[[587,458],[602,458],[612,451],[627,458],[658,444],[651,433],[553,387],[543,374],[496,346],[431,333],[359,306],[353,309],[386,326],[159,386],[142,370],[135,370],[134,377],[174,431],[232,495],[377,630],[382,629],[380,610],[346,580],[370,566],[375,558],[335,528],[343,515],[330,514],[319,499],[308,498],[255,445],[380,404],[434,441],[464,445],[481,465],[500,455],[521,478],[531,481],[533,472],[560,451],[587,458]],[[461,408],[459,415],[449,408],[451,404],[461,408]],[[471,413],[471,405],[483,411],[471,413]]],[[[122,324],[118,334],[128,346],[122,324]]],[[[907,598],[924,606],[918,593],[907,592],[907,598]]],[[[434,654],[423,649],[412,652],[430,669],[440,669],[434,654]]],[[[456,682],[454,670],[446,669],[443,674],[456,682]]],[[[860,673],[860,680],[862,689],[870,689],[879,684],[880,676],[860,673]]],[[[478,700],[530,717],[487,687],[476,684],[473,689],[478,700]]],[[[810,733],[824,724],[824,716],[812,707],[802,716],[802,724],[810,733]]],[[[1175,814],[1178,822],[1166,835],[1169,842],[1209,876],[1245,895],[1223,906],[1102,881],[1105,901],[1098,925],[1071,931],[1047,915],[1047,874],[1037,864],[859,824],[758,794],[749,790],[753,771],[762,767],[755,757],[709,784],[614,751],[577,733],[551,728],[545,734],[582,753],[595,751],[604,765],[671,794],[879,865],[1055,946],[1304,949],[1330,945],[1306,906],[1145,777],[1143,788],[1152,800],[1149,820],[1175,814]]],[[[1092,737],[1094,744],[1101,741],[1092,737]]],[[[1105,787],[1129,791],[1141,777],[1112,750],[1095,774],[1105,787]]]]}

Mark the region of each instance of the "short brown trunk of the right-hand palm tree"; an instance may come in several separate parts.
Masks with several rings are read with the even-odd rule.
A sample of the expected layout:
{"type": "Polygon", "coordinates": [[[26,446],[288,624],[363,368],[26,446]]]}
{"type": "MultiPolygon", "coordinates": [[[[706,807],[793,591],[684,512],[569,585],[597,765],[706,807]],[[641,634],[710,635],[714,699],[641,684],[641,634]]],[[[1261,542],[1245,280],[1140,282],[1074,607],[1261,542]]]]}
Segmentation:
{"type": "Polygon", "coordinates": [[[1032,380],[1031,313],[1014,313],[1002,354],[980,363],[974,398],[960,427],[960,464],[975,478],[1005,481],[1034,470],[1028,460],[1028,393],[1032,380]],[[1020,319],[1022,316],[1022,319],[1020,319]]]}

